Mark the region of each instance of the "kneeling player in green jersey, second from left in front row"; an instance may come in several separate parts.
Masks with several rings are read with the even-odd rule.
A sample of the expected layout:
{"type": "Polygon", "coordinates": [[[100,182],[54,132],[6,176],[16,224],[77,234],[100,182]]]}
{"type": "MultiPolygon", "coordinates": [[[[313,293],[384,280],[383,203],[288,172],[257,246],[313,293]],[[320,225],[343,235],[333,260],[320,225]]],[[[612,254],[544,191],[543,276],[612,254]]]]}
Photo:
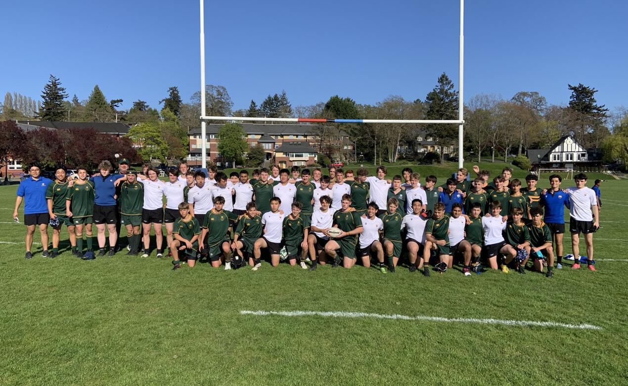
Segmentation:
{"type": "Polygon", "coordinates": [[[218,268],[224,261],[225,270],[230,270],[230,223],[237,220],[237,215],[234,212],[222,209],[225,204],[224,197],[216,196],[213,202],[214,207],[205,214],[205,221],[203,221],[203,230],[200,234],[198,246],[201,250],[205,247],[207,248],[207,256],[212,262],[212,267],[218,268]],[[207,238],[207,240],[205,240],[205,238],[207,238]]]}

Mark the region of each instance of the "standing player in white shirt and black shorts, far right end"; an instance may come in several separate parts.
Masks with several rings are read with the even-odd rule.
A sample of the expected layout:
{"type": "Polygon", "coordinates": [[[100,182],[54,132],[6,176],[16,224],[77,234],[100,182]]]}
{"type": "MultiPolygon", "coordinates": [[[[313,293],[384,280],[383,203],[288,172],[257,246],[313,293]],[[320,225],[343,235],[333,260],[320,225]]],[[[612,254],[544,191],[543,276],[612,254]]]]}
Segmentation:
{"type": "Polygon", "coordinates": [[[566,189],[569,195],[569,231],[571,232],[571,250],[575,259],[571,268],[580,268],[580,232],[584,234],[587,244],[587,266],[595,271],[593,266],[593,232],[600,228],[600,212],[597,208],[595,191],[585,186],[587,175],[577,174],[573,179],[575,187],[566,189]]]}

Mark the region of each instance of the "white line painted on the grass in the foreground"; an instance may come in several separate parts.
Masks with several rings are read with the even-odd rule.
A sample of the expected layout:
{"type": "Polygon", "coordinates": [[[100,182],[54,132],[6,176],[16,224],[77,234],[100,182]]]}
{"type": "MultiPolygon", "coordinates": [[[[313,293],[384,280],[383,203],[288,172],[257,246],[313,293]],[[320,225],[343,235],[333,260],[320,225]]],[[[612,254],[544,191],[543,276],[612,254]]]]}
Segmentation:
{"type": "Polygon", "coordinates": [[[450,323],[477,323],[477,324],[502,324],[504,326],[538,326],[538,327],[560,327],[571,329],[602,329],[592,324],[566,324],[556,322],[536,322],[536,321],[513,321],[504,319],[475,319],[469,317],[437,317],[437,316],[407,316],[399,314],[371,314],[367,312],[344,312],[344,311],[240,311],[242,315],[255,316],[323,316],[323,317],[372,317],[375,319],[401,319],[404,321],[429,321],[429,322],[450,322],[450,323]]]}

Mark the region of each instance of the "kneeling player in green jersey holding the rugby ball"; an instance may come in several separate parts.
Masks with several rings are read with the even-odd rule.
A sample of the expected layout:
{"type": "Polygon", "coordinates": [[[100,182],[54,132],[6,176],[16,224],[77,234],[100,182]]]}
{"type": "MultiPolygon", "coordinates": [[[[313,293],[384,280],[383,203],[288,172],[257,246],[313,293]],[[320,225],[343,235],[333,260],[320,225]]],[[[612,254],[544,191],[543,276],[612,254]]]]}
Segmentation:
{"type": "Polygon", "coordinates": [[[357,235],[362,232],[362,220],[355,211],[350,211],[351,196],[342,197],[342,209],[333,213],[333,226],[342,231],[340,236],[325,245],[325,253],[333,259],[332,268],[338,267],[340,256],[342,265],[351,268],[355,264],[355,245],[357,235]]]}

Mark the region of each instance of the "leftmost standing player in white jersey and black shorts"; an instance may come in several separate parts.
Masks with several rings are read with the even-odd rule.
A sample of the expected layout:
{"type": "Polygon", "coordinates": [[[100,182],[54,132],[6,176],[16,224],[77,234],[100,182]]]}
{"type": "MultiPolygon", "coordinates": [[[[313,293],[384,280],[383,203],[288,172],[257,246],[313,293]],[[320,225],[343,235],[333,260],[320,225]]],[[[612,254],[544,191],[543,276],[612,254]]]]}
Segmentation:
{"type": "Polygon", "coordinates": [[[163,189],[166,184],[158,179],[157,170],[153,167],[147,168],[146,174],[148,178],[138,174],[138,181],[144,184],[144,206],[142,207],[142,240],[144,241],[144,253],[142,257],[148,257],[149,255],[151,227],[155,230],[157,257],[163,257],[163,250],[161,249],[163,244],[161,224],[163,223],[163,189]]]}

